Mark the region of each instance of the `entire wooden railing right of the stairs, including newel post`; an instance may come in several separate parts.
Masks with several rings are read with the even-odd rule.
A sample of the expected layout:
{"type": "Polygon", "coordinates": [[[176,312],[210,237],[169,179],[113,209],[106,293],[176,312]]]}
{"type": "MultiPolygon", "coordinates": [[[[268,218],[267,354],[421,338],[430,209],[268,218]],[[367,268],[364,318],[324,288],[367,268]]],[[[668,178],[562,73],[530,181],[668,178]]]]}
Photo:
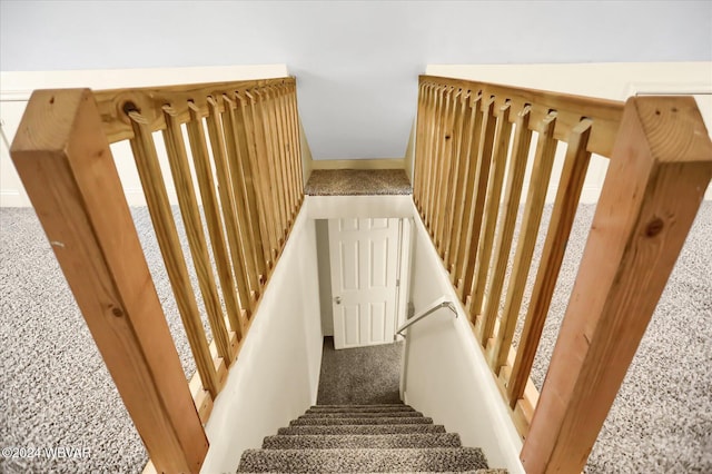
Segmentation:
{"type": "Polygon", "coordinates": [[[524,438],[522,463],[528,473],[581,472],[712,175],[696,105],[423,76],[416,132],[414,200],[524,438]],[[560,145],[563,169],[515,350],[560,145]],[[610,158],[609,170],[540,395],[530,374],[592,154],[610,158]]]}

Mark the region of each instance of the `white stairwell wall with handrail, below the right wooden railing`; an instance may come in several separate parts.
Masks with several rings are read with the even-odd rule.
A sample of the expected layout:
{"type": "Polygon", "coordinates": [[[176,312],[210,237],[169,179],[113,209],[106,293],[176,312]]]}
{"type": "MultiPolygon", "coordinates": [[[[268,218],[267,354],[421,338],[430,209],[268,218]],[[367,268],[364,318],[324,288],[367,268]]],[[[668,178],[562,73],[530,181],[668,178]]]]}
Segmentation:
{"type": "Polygon", "coordinates": [[[505,403],[459,305],[447,273],[414,208],[415,251],[411,295],[418,313],[441,296],[456,302],[427,316],[407,333],[404,402],[459,433],[463,445],[482,447],[491,467],[522,473],[522,443],[505,403]]]}

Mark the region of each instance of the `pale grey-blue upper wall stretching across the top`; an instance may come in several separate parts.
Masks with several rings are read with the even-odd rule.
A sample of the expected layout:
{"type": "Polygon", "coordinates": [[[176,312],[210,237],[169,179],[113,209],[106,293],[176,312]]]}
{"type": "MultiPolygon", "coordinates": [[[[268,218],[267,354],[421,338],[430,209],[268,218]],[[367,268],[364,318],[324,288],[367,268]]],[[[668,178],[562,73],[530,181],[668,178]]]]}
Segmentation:
{"type": "Polygon", "coordinates": [[[0,69],[287,63],[315,158],[403,158],[427,63],[709,61],[709,1],[0,1],[0,69]]]}

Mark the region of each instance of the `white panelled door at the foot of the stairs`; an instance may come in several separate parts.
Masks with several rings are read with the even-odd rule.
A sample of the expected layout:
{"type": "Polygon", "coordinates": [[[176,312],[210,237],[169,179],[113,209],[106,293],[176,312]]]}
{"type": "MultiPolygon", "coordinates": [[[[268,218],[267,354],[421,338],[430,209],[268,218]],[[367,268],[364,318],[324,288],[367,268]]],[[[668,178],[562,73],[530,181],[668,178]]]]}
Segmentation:
{"type": "Polygon", "coordinates": [[[334,347],[393,343],[399,219],[329,219],[334,347]]]}

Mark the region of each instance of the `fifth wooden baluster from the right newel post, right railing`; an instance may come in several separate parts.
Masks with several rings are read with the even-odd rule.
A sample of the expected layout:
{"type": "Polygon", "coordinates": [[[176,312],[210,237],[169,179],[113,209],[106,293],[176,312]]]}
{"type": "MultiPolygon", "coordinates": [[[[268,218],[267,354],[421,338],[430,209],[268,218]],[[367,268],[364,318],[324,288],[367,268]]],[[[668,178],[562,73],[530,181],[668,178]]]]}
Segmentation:
{"type": "Polygon", "coordinates": [[[487,191],[487,180],[490,178],[490,166],[492,165],[492,150],[494,147],[494,132],[496,126],[496,117],[494,116],[494,98],[483,108],[482,135],[479,147],[477,150],[477,174],[474,179],[474,190],[472,192],[473,200],[468,204],[469,223],[467,229],[467,238],[464,246],[465,267],[463,280],[459,287],[459,296],[462,302],[467,304],[469,297],[468,292],[472,289],[472,280],[475,273],[475,263],[477,259],[477,248],[479,247],[479,235],[482,230],[483,209],[485,207],[485,198],[487,191]]]}

